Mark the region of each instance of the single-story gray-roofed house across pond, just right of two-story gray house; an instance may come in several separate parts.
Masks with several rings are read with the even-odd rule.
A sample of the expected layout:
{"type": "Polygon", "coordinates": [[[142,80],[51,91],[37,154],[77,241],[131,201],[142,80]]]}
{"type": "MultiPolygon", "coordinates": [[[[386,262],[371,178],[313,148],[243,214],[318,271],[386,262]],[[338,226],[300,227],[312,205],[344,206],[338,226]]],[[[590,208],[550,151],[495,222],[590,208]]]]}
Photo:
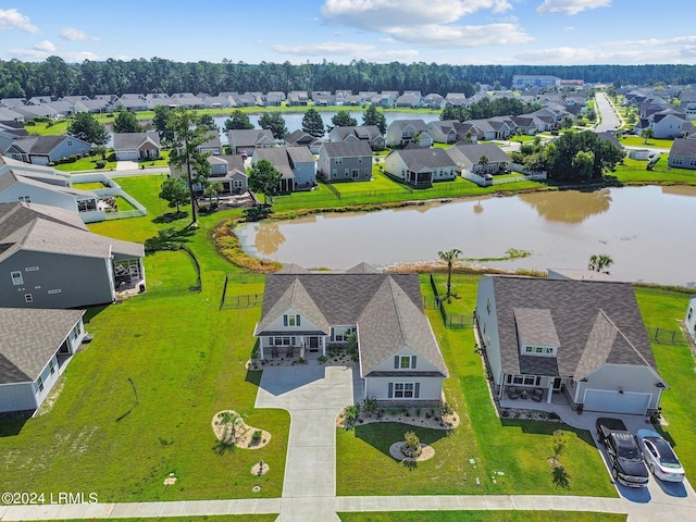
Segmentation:
{"type": "Polygon", "coordinates": [[[444,149],[410,146],[389,152],[384,172],[408,185],[430,187],[433,182],[455,179],[457,165],[444,149]]]}

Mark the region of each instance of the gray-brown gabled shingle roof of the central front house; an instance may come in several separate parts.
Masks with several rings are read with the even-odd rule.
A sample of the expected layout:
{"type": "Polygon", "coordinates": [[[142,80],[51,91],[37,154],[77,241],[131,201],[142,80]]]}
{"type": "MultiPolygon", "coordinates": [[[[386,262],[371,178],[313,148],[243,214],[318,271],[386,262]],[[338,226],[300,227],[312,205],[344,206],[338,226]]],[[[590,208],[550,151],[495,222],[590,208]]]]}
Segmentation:
{"type": "Polygon", "coordinates": [[[289,270],[270,274],[256,335],[274,334],[268,327],[289,309],[316,325],[318,334],[330,334],[332,325],[358,325],[363,375],[403,346],[447,375],[447,366],[421,310],[418,274],[368,270],[346,273],[289,270]]]}

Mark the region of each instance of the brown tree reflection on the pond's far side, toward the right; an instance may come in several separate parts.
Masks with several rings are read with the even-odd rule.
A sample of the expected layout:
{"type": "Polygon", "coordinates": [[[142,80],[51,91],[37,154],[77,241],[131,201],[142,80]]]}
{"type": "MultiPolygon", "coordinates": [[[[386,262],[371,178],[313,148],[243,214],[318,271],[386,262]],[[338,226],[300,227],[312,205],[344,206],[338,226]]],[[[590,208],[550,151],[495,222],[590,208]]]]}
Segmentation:
{"type": "Polygon", "coordinates": [[[539,217],[560,223],[582,223],[591,215],[601,214],[611,206],[611,191],[608,188],[581,192],[562,190],[560,192],[531,192],[520,195],[520,200],[537,211],[539,217]]]}

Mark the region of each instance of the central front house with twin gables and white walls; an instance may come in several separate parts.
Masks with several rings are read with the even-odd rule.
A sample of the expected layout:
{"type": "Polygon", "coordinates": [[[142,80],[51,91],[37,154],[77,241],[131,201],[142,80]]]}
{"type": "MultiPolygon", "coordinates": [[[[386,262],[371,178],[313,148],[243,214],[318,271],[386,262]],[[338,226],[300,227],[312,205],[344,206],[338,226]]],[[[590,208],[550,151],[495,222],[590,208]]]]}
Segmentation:
{"type": "Polygon", "coordinates": [[[266,276],[253,332],[261,359],[326,357],[327,348],[347,346],[355,334],[363,398],[442,400],[448,372],[423,314],[417,274],[364,265],[345,273],[290,272],[266,276]]]}

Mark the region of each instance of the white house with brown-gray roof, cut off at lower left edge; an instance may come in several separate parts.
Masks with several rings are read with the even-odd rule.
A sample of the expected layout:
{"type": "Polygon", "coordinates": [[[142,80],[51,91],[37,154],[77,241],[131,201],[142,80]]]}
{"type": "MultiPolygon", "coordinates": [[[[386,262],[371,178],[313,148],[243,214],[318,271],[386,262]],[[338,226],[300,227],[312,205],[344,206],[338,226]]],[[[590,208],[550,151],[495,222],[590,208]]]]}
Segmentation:
{"type": "Polygon", "coordinates": [[[84,314],[0,308],[0,413],[41,406],[85,338],[84,314]]]}

